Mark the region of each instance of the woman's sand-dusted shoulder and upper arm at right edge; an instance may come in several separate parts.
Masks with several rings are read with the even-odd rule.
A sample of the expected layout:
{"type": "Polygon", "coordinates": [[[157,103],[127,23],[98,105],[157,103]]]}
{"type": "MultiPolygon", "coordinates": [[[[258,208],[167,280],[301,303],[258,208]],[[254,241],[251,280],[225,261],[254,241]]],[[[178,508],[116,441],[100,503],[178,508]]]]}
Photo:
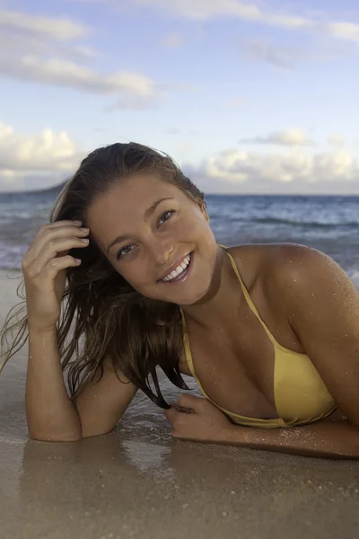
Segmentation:
{"type": "Polygon", "coordinates": [[[281,246],[267,272],[269,301],[302,343],[328,392],[359,428],[359,290],[326,254],[281,246]]]}

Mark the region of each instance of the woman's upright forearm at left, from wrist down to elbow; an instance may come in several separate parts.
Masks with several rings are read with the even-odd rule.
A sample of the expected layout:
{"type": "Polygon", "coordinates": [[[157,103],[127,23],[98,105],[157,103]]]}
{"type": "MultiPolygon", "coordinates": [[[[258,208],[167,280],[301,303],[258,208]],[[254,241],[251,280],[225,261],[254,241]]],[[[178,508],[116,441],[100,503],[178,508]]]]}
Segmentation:
{"type": "Polygon", "coordinates": [[[29,331],[25,407],[31,437],[46,441],[82,437],[80,417],[66,391],[56,328],[29,331]]]}

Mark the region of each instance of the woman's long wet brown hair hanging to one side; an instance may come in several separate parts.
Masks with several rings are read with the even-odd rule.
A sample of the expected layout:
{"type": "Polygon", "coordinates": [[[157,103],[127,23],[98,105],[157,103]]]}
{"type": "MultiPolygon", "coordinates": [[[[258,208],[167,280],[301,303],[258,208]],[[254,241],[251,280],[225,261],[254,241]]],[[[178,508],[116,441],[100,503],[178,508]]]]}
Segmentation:
{"type": "MultiPolygon", "coordinates": [[[[81,219],[85,226],[86,210],[97,195],[106,192],[114,181],[130,179],[131,175],[142,172],[154,172],[162,181],[176,185],[190,199],[206,207],[204,193],[180,171],[169,155],[135,142],[117,143],[98,148],[83,159],[73,178],[58,194],[50,211],[50,222],[81,219]]],[[[89,239],[90,244],[85,250],[69,252],[81,258],[82,264],[67,270],[62,312],[57,323],[58,347],[62,369],[68,371],[70,398],[76,399],[84,384],[93,380],[98,367],[102,376],[103,361],[109,358],[115,370],[118,367],[153,402],[161,408],[170,408],[162,396],[156,367],[162,368],[172,384],[189,389],[180,376],[179,367],[183,349],[180,307],[141,295],[111,266],[91,234],[89,239]],[[72,324],[74,330],[66,345],[72,324]],[[81,340],[82,350],[79,347],[81,340]],[[156,393],[151,388],[150,375],[156,393]]],[[[18,296],[21,286],[24,286],[23,280],[17,288],[18,296]]],[[[26,304],[26,301],[22,303],[26,304]]],[[[26,305],[23,309],[26,310],[26,305]]],[[[6,317],[0,332],[3,349],[5,333],[20,326],[13,345],[5,354],[3,367],[28,339],[26,334],[22,342],[27,330],[26,315],[9,326],[17,314],[8,321],[6,317]]]]}

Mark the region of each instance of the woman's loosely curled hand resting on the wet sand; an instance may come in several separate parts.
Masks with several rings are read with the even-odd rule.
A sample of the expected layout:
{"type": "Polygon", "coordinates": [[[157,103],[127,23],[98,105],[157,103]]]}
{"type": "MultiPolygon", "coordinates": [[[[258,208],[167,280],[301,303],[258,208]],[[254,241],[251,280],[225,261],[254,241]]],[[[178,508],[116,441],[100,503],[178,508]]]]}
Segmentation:
{"type": "Polygon", "coordinates": [[[170,410],[164,410],[163,413],[171,422],[174,438],[194,442],[222,442],[233,427],[223,412],[203,397],[182,393],[171,406],[170,410]]]}

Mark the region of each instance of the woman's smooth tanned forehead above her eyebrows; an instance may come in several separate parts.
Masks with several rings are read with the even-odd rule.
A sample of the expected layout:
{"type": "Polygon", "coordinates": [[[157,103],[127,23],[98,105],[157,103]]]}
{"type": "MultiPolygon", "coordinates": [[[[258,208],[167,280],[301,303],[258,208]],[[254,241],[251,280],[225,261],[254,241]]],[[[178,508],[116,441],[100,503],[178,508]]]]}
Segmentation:
{"type": "MultiPolygon", "coordinates": [[[[189,201],[176,185],[161,181],[150,174],[115,182],[106,193],[94,199],[88,210],[88,224],[92,235],[99,244],[104,245],[112,239],[113,234],[134,232],[136,223],[144,219],[144,211],[156,199],[164,197],[173,197],[182,203],[189,201]]],[[[171,202],[173,201],[167,201],[168,204],[171,202]]]]}

